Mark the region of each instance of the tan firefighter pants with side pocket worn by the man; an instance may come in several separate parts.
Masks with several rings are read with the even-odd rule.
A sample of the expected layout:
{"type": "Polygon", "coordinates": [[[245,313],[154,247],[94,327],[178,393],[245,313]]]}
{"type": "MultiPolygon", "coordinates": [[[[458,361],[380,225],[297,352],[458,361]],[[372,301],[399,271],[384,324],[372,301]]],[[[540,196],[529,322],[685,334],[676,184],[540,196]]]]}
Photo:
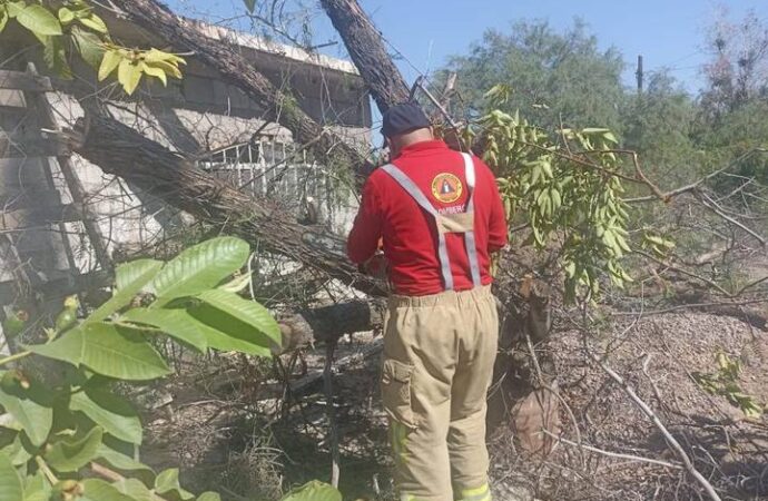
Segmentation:
{"type": "Polygon", "coordinates": [[[499,317],[490,286],[390,299],[382,399],[402,501],[489,501],[485,394],[499,317]]]}

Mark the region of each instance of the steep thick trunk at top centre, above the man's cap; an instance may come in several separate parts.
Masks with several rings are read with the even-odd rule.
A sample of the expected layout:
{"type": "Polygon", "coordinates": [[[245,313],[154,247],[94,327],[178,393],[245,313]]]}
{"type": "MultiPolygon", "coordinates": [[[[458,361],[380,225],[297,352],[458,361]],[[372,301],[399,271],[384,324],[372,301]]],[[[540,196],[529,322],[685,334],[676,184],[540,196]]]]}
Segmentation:
{"type": "Polygon", "coordinates": [[[408,100],[408,86],[357,0],[321,0],[381,112],[408,100]]]}

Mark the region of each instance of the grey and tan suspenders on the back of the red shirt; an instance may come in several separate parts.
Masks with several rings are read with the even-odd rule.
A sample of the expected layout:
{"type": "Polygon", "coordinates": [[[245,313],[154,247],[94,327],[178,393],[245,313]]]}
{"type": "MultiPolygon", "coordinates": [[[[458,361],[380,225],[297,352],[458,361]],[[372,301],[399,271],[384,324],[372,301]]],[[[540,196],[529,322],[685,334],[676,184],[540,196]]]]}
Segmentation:
{"type": "Polygon", "coordinates": [[[470,271],[472,273],[472,284],[475,287],[481,285],[480,282],[480,264],[477,262],[477,247],[474,239],[474,185],[475,173],[472,156],[469,154],[461,154],[464,158],[464,177],[467,184],[466,209],[460,214],[443,215],[434,208],[432,203],[426,198],[424,191],[416,186],[410,177],[401,169],[392,164],[381,167],[386,174],[397,181],[397,184],[426,210],[435,222],[437,227],[437,261],[440,262],[440,272],[443,276],[443,285],[446,291],[453,289],[453,274],[451,273],[451,261],[447,255],[447,246],[445,245],[446,233],[463,233],[464,246],[466,247],[466,255],[470,259],[470,271]]]}

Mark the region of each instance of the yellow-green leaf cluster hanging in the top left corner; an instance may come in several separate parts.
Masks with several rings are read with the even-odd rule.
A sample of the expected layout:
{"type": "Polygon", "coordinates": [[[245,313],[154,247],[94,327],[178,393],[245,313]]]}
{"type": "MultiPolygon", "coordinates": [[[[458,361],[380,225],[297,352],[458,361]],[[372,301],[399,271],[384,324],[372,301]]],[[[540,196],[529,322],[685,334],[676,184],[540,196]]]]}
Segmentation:
{"type": "Polygon", "coordinates": [[[62,78],[72,78],[67,49],[73,47],[82,59],[98,69],[99,81],[117,70],[117,79],[132,95],[142,78],[155,78],[164,86],[168,77],[181,78],[179,65],[186,61],[158,49],[140,50],[117,45],[109,28],[87,0],[33,2],[0,0],[0,32],[10,20],[32,33],[43,46],[46,63],[62,78]]]}

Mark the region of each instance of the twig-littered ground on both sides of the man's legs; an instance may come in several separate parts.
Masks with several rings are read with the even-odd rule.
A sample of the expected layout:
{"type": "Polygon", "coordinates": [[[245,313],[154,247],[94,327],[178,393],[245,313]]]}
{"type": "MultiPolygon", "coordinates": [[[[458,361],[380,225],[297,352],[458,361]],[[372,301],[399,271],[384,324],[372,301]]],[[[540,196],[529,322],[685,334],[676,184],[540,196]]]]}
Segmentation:
{"type": "MultiPolygon", "coordinates": [[[[558,325],[540,348],[552,357],[568,404],[560,409],[562,436],[677,465],[658,430],[587,355],[581,332],[568,322],[558,325]]],[[[610,347],[605,363],[653,409],[723,500],[758,500],[768,499],[768,420],[746,419],[726,397],[703,392],[692,375],[713,372],[715,354],[721,350],[742,362],[741,390],[765,406],[766,336],[738,318],[705,313],[649,316],[634,324],[626,316],[605,316],[595,322],[589,346],[594,352],[610,347]]],[[[336,358],[360,353],[374,341],[357,334],[339,344],[336,358]]],[[[322,369],[323,356],[322,347],[307,353],[309,374],[322,369]]],[[[156,409],[148,411],[146,461],[158,468],[180,463],[183,479],[193,489],[216,487],[225,499],[237,501],[277,499],[291,485],[328,480],[322,379],[292,395],[282,391],[270,362],[254,365],[219,356],[195,361],[180,372],[170,394],[155,395],[156,409]]],[[[377,374],[374,354],[357,357],[334,376],[341,489],[349,500],[394,499],[377,374]]],[[[297,364],[292,381],[302,376],[297,364]]],[[[526,454],[509,420],[489,430],[489,442],[498,500],[706,499],[677,468],[564,443],[547,456],[526,454]]]]}

